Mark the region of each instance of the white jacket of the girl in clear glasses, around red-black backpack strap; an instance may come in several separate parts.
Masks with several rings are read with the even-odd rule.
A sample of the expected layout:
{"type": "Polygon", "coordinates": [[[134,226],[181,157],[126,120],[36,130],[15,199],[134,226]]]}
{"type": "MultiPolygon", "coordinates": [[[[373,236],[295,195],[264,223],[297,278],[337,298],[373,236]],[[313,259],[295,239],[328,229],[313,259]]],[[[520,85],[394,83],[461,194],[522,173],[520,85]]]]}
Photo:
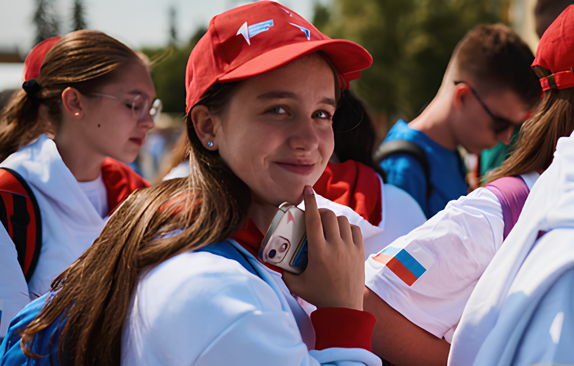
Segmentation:
{"type": "MultiPolygon", "coordinates": [[[[26,295],[34,299],[46,293],[57,275],[91,246],[102,231],[106,219],[102,219],[96,212],[62,161],[56,144],[46,135],[11,154],[0,166],[15,170],[28,182],[40,207],[42,248],[36,270],[25,291],[26,295]]],[[[0,243],[6,245],[9,239],[0,238],[0,243]]],[[[14,247],[11,240],[7,245],[10,244],[14,247]]],[[[5,296],[3,293],[6,289],[21,287],[22,281],[25,283],[15,250],[9,256],[0,256],[0,268],[0,296],[5,296]]],[[[14,298],[0,298],[0,301],[21,302],[14,298]]],[[[5,327],[20,310],[21,307],[16,309],[5,306],[0,337],[5,335],[5,327]]]]}

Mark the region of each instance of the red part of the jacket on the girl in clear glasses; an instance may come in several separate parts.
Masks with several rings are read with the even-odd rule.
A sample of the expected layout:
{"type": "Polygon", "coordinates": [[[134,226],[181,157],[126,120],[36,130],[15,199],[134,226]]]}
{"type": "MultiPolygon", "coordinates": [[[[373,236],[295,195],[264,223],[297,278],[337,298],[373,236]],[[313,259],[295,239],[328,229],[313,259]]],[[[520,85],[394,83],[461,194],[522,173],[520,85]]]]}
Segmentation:
{"type": "Polygon", "coordinates": [[[102,163],[102,180],[106,185],[108,198],[108,215],[136,189],[149,187],[150,184],[131,168],[112,158],[102,163]]]}

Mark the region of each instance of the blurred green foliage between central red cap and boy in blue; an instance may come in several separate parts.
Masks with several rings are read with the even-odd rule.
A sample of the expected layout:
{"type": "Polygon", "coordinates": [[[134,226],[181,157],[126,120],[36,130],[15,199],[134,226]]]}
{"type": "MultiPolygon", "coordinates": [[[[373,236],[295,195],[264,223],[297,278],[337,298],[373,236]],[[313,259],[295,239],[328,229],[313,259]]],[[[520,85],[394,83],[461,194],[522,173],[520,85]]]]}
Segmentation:
{"type": "Polygon", "coordinates": [[[325,34],[373,56],[352,84],[371,111],[412,119],[438,91],[457,42],[479,23],[501,21],[501,7],[501,0],[333,0],[330,10],[315,9],[325,34]]]}

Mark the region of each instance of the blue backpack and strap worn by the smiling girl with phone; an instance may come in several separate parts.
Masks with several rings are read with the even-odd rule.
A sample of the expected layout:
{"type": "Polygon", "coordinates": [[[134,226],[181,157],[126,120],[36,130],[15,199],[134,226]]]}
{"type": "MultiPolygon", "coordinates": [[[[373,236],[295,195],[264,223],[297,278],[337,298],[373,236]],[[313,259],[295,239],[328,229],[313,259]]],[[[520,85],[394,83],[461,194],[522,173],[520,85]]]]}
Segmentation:
{"type": "MultiPolygon", "coordinates": [[[[257,268],[255,268],[255,266],[249,262],[247,256],[245,256],[245,254],[243,254],[238,248],[236,248],[227,240],[216,244],[210,244],[196,251],[210,252],[212,254],[222,256],[223,258],[236,260],[251,274],[262,278],[261,274],[259,274],[257,271],[257,268]]],[[[36,300],[30,302],[10,322],[8,332],[6,333],[6,337],[2,343],[4,347],[0,349],[0,365],[61,365],[58,361],[57,355],[59,343],[58,333],[60,332],[61,327],[64,326],[65,322],[65,320],[62,321],[62,316],[58,317],[45,329],[42,329],[40,333],[37,333],[33,343],[30,344],[30,351],[45,357],[40,359],[32,359],[24,355],[20,346],[20,330],[26,328],[26,326],[28,326],[28,324],[30,324],[30,322],[32,322],[34,318],[40,314],[40,311],[44,307],[50,294],[51,293],[46,293],[36,300]]]]}

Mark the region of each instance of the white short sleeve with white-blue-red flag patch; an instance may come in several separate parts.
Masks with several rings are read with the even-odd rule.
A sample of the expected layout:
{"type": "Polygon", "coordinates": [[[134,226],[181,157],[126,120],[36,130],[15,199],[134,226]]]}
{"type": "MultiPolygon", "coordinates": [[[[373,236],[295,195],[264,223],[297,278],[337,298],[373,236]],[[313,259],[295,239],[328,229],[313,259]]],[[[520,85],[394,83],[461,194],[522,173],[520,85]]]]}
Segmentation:
{"type": "Polygon", "coordinates": [[[409,321],[450,342],[476,282],[502,244],[503,227],[496,196],[476,189],[395,240],[378,260],[371,256],[366,286],[409,321]],[[400,262],[400,252],[414,258],[412,272],[389,262],[391,269],[383,260],[400,262]]]}

